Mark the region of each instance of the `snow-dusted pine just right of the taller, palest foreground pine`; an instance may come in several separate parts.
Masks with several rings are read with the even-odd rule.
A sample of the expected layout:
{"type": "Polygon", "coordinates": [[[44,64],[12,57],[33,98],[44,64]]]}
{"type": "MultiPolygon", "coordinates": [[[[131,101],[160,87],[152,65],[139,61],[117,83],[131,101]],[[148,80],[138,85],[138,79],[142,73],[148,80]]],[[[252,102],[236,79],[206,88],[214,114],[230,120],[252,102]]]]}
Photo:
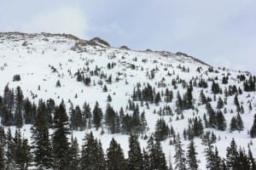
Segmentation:
{"type": "Polygon", "coordinates": [[[197,152],[195,151],[194,141],[191,140],[187,152],[187,165],[188,169],[197,170],[199,161],[196,159],[197,152]]]}

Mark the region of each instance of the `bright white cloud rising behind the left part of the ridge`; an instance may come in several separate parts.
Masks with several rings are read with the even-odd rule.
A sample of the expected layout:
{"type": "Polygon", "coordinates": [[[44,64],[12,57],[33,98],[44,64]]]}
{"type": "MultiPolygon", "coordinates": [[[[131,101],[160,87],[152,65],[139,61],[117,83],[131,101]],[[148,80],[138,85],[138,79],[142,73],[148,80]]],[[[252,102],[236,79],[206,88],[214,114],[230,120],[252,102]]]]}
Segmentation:
{"type": "Polygon", "coordinates": [[[68,33],[85,38],[88,25],[80,8],[61,7],[54,11],[36,14],[32,20],[24,23],[22,31],[68,33]]]}

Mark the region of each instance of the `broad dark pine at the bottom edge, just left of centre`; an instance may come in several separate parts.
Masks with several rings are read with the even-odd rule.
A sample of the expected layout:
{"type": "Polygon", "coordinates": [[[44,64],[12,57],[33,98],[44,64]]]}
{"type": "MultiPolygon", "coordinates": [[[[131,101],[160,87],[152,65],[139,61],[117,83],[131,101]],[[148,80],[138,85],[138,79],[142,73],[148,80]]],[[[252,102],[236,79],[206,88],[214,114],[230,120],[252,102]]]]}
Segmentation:
{"type": "Polygon", "coordinates": [[[124,152],[114,139],[111,140],[107,150],[107,167],[109,170],[125,169],[124,152]]]}

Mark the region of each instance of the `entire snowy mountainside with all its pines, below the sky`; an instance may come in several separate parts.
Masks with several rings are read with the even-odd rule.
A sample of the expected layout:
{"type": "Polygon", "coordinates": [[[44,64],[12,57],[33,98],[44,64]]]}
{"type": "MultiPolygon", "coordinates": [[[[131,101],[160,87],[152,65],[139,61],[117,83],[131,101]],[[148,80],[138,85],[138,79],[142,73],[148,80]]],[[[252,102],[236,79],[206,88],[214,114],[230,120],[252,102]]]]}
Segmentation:
{"type": "Polygon", "coordinates": [[[2,32],[0,80],[0,169],[256,169],[250,72],[2,32]]]}

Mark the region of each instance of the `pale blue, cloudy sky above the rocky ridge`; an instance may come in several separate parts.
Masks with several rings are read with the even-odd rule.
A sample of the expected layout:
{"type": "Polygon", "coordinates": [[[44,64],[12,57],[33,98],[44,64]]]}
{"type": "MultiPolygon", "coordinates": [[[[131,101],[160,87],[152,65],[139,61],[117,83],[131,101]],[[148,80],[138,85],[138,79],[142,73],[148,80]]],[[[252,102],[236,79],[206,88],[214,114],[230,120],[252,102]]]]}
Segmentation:
{"type": "Polygon", "coordinates": [[[255,0],[0,0],[0,31],[101,37],[256,74],[255,0]]]}

